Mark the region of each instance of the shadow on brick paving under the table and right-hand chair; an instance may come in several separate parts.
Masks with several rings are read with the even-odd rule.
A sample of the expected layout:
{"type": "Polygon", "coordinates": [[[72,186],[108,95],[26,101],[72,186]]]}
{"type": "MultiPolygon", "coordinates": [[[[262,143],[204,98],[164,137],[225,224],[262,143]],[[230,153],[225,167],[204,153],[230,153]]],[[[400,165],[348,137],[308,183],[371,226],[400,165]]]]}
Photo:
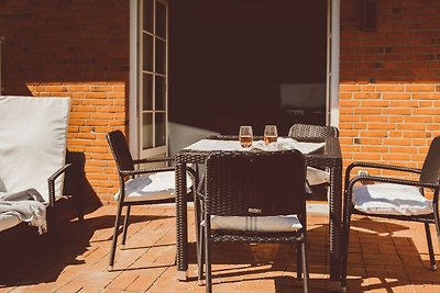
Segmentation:
{"type": "MultiPolygon", "coordinates": [[[[424,229],[422,224],[420,228],[424,229]]],[[[405,223],[400,225],[396,221],[384,222],[365,217],[352,222],[348,267],[349,292],[369,290],[394,292],[393,288],[398,286],[409,286],[408,290],[411,290],[410,286],[415,284],[440,283],[440,272],[429,269],[429,257],[425,251],[427,249],[419,250],[411,237],[394,235],[408,229],[414,227],[405,223]],[[421,256],[425,256],[424,259],[421,256]],[[374,282],[365,282],[365,279],[374,282]]],[[[328,225],[308,230],[309,271],[312,275],[310,286],[318,290],[317,292],[336,291],[327,289],[329,278],[327,239],[328,225]]],[[[440,259],[438,255],[436,257],[437,260],[440,259]]],[[[195,244],[189,247],[189,262],[197,262],[195,244]]],[[[274,280],[275,292],[285,292],[286,288],[301,292],[301,283],[296,280],[296,249],[293,245],[215,244],[212,263],[213,283],[271,279],[274,280]],[[284,271],[282,277],[276,273],[279,271],[284,271]]]]}

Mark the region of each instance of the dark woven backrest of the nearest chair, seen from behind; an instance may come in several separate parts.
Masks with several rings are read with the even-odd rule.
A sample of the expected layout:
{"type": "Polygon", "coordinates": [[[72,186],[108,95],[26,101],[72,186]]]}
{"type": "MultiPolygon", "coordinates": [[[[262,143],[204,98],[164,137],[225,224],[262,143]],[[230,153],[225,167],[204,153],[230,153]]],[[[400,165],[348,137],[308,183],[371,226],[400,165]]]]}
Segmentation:
{"type": "Polygon", "coordinates": [[[306,164],[297,150],[212,153],[206,180],[208,214],[306,215],[306,164]]]}

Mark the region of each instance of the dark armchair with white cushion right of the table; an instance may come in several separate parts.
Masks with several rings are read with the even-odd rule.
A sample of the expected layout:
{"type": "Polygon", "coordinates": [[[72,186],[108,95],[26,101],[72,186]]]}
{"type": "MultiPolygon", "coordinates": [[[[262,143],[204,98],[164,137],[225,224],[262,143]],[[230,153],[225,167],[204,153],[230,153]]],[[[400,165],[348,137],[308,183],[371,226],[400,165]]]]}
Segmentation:
{"type": "Polygon", "coordinates": [[[431,270],[437,270],[429,224],[435,224],[437,235],[440,237],[438,203],[440,190],[439,158],[440,136],[432,140],[421,169],[371,162],[353,162],[346,168],[341,273],[341,289],[343,292],[346,291],[346,261],[352,214],[424,223],[431,270]],[[353,168],[374,168],[417,173],[419,174],[419,180],[367,174],[350,179],[353,168]],[[380,182],[381,184],[355,185],[355,183],[362,181],[380,182]],[[432,201],[425,198],[424,191],[426,190],[433,191],[432,201]]]}

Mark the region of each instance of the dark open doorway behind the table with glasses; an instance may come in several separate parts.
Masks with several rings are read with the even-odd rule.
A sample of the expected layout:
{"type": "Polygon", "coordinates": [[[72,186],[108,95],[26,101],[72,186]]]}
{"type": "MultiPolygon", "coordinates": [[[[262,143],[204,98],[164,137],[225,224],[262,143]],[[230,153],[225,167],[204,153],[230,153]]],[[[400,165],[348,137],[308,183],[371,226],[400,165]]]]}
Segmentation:
{"type": "Polygon", "coordinates": [[[323,125],[326,64],[326,0],[170,1],[170,122],[223,134],[323,125]]]}

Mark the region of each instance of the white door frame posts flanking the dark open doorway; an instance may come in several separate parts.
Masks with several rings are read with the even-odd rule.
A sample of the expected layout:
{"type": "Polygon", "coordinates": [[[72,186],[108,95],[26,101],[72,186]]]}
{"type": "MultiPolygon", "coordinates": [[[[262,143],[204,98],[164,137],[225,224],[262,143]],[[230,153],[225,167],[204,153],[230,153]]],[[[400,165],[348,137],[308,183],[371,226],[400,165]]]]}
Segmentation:
{"type": "MultiPolygon", "coordinates": [[[[339,126],[339,72],[340,72],[340,11],[341,0],[327,0],[327,101],[326,124],[339,126]]],[[[138,0],[130,0],[130,81],[129,81],[129,144],[132,154],[139,158],[138,134],[138,44],[139,40],[138,0]]],[[[168,40],[169,42],[169,40],[168,40]]],[[[166,121],[166,124],[168,122],[166,121]]],[[[166,126],[167,127],[167,126],[166,126]]]]}

